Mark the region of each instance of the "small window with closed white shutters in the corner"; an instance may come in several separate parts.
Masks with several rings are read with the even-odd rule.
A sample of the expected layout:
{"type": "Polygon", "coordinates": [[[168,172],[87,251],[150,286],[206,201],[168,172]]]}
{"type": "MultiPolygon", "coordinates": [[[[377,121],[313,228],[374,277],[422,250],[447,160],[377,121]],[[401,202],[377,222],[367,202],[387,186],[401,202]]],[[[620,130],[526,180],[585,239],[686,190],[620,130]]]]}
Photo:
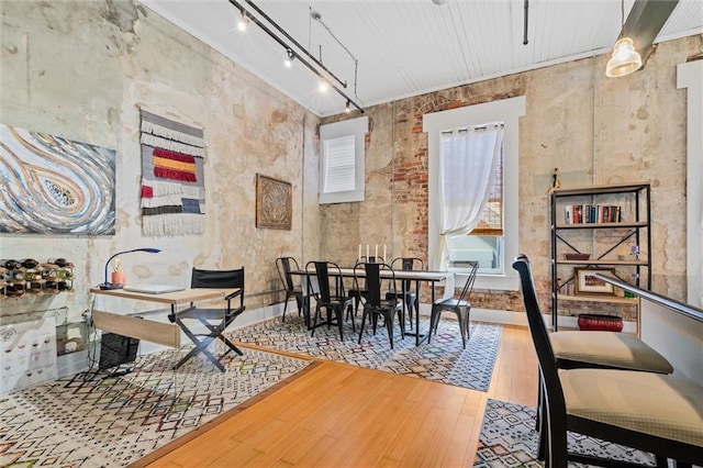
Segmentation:
{"type": "Polygon", "coordinates": [[[364,141],[369,119],[320,126],[320,203],[364,201],[364,141]]]}

